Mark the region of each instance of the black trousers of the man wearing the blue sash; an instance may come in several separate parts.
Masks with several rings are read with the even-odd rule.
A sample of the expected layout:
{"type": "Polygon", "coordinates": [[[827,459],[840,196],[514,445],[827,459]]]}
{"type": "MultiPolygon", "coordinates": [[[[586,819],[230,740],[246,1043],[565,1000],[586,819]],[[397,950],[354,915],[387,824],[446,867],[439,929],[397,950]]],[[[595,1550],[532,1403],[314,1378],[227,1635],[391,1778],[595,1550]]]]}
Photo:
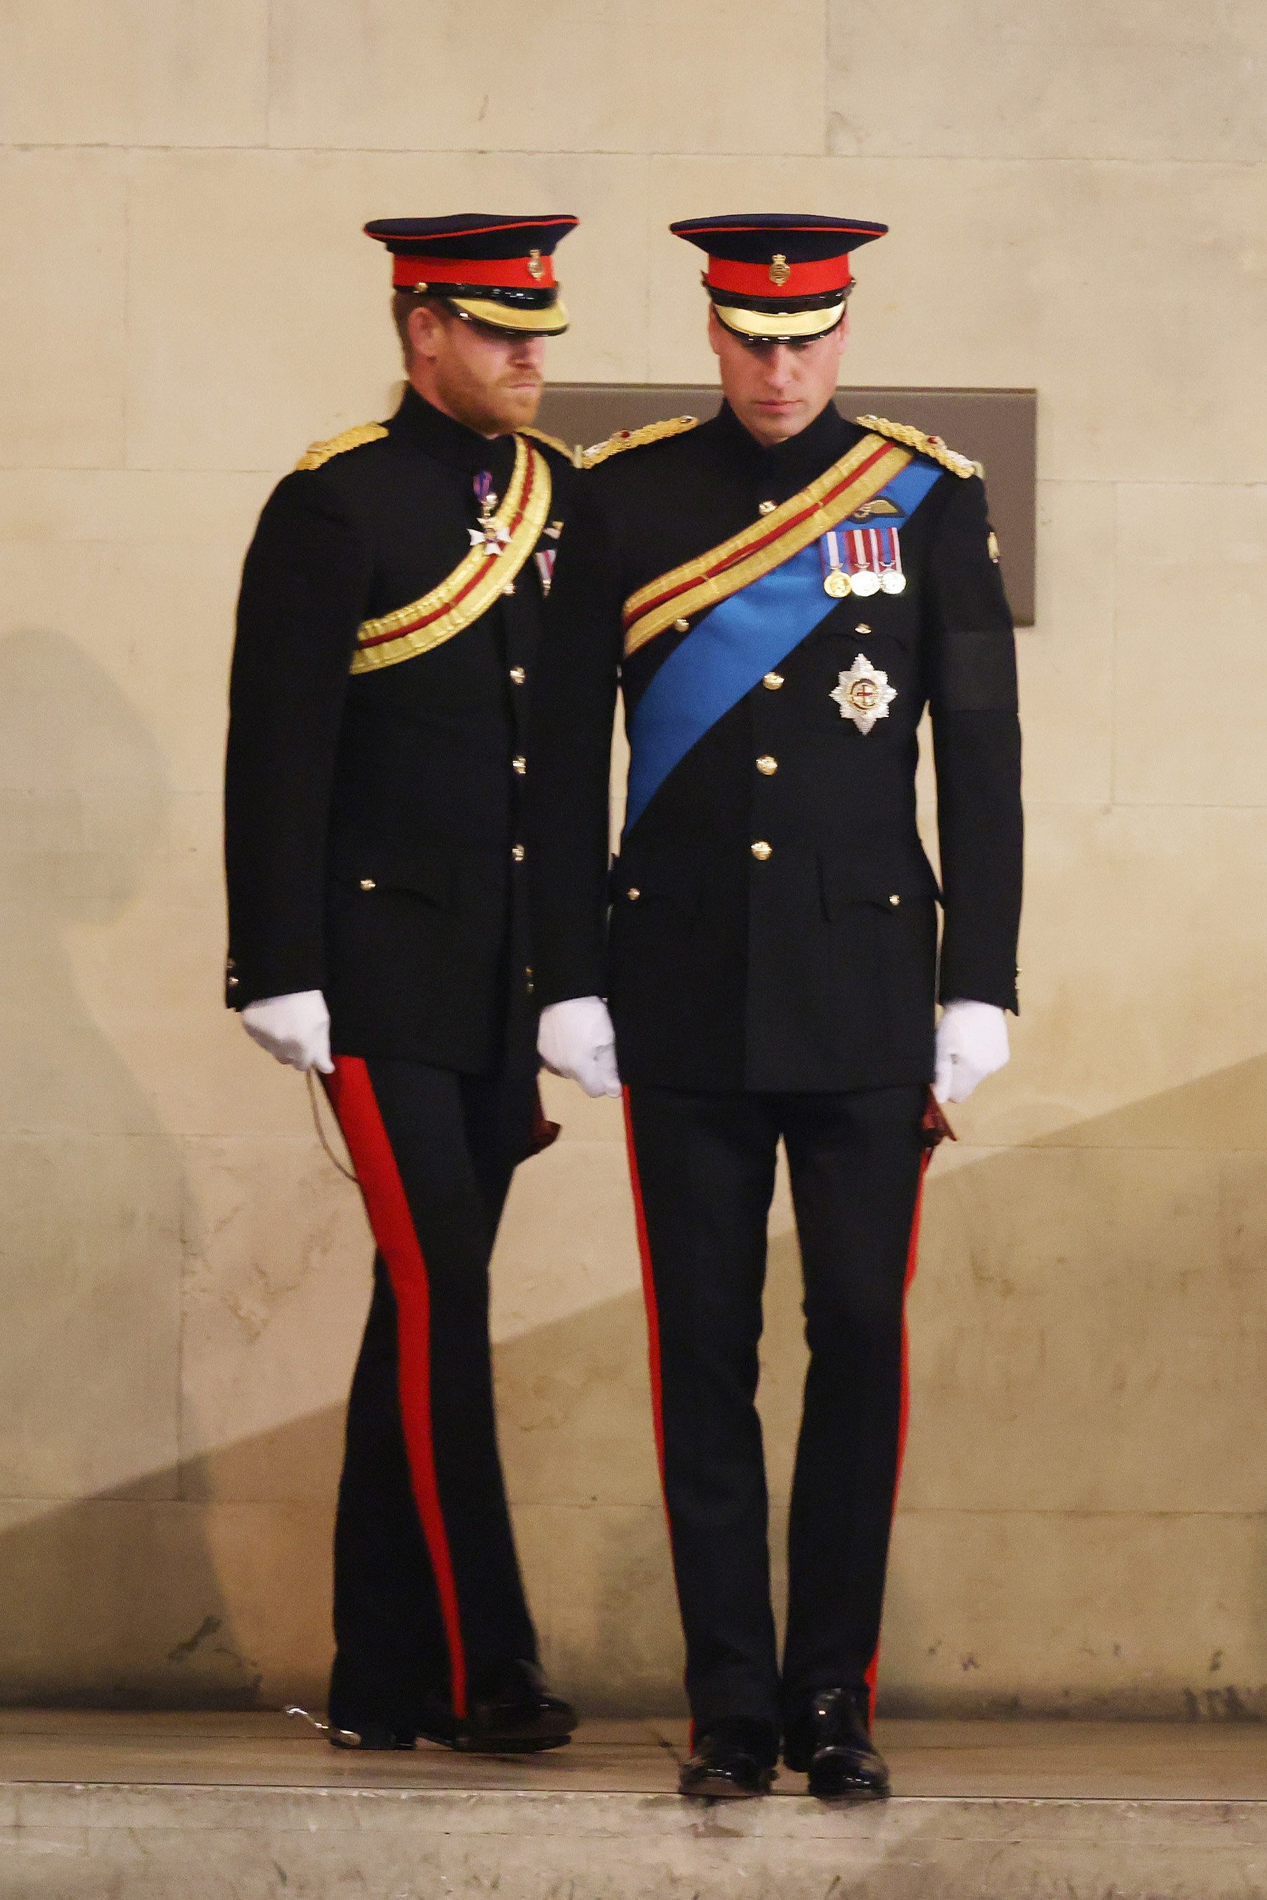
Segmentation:
{"type": "Polygon", "coordinates": [[[781,1727],[872,1680],[904,1410],[904,1288],[927,1091],[629,1091],[652,1385],[697,1729],[781,1727]],[[809,1374],[779,1670],[756,1416],[766,1220],[783,1138],[809,1374]]]}

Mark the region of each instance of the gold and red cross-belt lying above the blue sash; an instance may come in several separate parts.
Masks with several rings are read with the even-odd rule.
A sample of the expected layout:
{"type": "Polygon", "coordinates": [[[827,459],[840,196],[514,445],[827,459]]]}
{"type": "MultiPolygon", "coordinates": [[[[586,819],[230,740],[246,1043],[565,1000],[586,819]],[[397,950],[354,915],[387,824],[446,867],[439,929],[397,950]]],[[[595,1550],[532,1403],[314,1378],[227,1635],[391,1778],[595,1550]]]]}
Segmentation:
{"type": "Polygon", "coordinates": [[[638,587],[625,600],[625,657],[676,619],[718,606],[771,574],[879,494],[912,460],[910,448],[883,435],[864,435],[847,456],[750,528],[638,587]]]}

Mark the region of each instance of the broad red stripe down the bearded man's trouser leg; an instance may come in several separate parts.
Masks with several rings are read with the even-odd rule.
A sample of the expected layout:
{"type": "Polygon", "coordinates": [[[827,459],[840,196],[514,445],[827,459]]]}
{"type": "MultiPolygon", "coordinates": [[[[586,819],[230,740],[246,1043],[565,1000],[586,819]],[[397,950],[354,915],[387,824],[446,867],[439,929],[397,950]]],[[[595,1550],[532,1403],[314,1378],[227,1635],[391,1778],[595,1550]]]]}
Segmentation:
{"type": "Polygon", "coordinates": [[[422,1258],[414,1216],[408,1210],[401,1170],[391,1151],[365,1058],[334,1056],[334,1074],[327,1077],[327,1091],[338,1115],[338,1125],[344,1130],[348,1153],[357,1170],[357,1184],[365,1197],[365,1212],[369,1214],[378,1252],[388,1264],[391,1292],[395,1294],[405,1452],[414,1484],[422,1535],[427,1543],[435,1590],[441,1602],[454,1716],[463,1718],[467,1700],[462,1617],[458,1613],[458,1586],[454,1583],[454,1564],[435,1471],[435,1438],[431,1433],[431,1288],[427,1284],[427,1264],[422,1258]]]}

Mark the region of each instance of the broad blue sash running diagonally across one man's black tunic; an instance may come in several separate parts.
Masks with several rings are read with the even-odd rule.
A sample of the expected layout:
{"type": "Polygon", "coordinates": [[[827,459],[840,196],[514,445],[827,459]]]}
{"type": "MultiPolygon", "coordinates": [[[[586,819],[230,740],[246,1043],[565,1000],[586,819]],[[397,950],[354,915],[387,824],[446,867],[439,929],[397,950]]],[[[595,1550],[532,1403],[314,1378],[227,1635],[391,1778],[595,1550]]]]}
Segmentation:
{"type": "MultiPolygon", "coordinates": [[[[881,494],[902,509],[904,521],[940,473],[927,462],[908,462],[881,494]]],[[[891,515],[878,521],[902,526],[891,515]]],[[[842,528],[847,526],[847,521],[842,522],[842,528]]],[[[823,593],[823,560],[819,543],[811,542],[691,627],[655,671],[629,722],[625,836],[691,747],[836,606],[840,602],[823,593]]]]}

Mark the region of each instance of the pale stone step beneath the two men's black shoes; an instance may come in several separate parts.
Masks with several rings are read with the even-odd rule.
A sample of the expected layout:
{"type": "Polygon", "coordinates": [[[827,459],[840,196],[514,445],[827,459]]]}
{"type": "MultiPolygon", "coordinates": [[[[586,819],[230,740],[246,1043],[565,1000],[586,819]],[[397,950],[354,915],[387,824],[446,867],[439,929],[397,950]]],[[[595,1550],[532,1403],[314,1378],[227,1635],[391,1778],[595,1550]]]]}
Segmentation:
{"type": "Polygon", "coordinates": [[[898,1794],[697,1805],[676,1725],[338,1756],[275,1718],[0,1712],[2,1900],[1250,1900],[1267,1731],[887,1723],[898,1794]]]}

